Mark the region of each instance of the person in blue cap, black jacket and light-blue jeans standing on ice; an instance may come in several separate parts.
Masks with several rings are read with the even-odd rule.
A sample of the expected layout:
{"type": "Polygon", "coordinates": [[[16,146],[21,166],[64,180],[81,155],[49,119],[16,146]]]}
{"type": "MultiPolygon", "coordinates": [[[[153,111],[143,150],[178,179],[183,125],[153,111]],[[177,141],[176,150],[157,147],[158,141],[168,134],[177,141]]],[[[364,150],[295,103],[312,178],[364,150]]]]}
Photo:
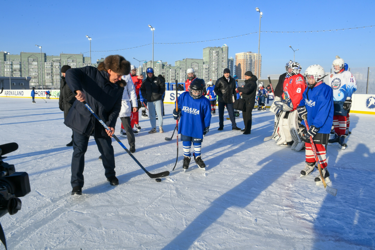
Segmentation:
{"type": "Polygon", "coordinates": [[[148,133],[156,133],[155,111],[159,121],[159,132],[163,133],[162,96],[165,92],[165,82],[154,75],[152,68],[147,68],[146,73],[147,77],[142,81],[141,93],[148,103],[148,116],[152,127],[148,133]]]}

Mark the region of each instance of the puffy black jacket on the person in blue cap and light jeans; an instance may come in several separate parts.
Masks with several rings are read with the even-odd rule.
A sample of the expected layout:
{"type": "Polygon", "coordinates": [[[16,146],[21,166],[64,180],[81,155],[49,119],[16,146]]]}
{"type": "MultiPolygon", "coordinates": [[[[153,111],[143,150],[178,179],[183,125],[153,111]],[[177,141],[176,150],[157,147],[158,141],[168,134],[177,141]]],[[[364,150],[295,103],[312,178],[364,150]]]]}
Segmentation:
{"type": "Polygon", "coordinates": [[[159,101],[165,92],[165,82],[154,74],[142,81],[141,93],[148,102],[159,101]]]}

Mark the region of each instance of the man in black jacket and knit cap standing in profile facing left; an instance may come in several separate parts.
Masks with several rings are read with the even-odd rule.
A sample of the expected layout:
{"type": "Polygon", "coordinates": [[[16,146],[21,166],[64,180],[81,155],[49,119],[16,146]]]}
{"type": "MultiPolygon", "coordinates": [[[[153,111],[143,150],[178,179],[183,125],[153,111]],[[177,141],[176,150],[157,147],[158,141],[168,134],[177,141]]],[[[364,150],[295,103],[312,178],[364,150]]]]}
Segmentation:
{"type": "Polygon", "coordinates": [[[245,110],[242,111],[243,123],[245,123],[245,128],[241,130],[243,134],[251,134],[252,111],[257,95],[257,80],[258,78],[251,71],[246,71],[245,86],[236,89],[240,92],[242,99],[246,101],[245,110]]]}

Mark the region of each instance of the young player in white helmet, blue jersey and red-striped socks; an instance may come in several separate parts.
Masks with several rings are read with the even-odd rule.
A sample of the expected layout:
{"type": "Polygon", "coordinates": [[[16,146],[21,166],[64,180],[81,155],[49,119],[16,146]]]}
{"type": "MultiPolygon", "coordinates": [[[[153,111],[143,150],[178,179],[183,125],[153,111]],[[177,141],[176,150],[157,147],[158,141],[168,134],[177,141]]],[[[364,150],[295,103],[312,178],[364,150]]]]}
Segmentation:
{"type": "MultiPolygon", "coordinates": [[[[309,130],[304,133],[302,140],[306,147],[306,167],[301,171],[300,177],[308,176],[314,170],[316,164],[310,136],[314,140],[315,150],[319,164],[322,168],[326,183],[330,182],[327,170],[326,147],[333,122],[333,91],[324,83],[326,72],[320,65],[311,65],[305,71],[305,79],[308,87],[302,95],[302,100],[297,106],[300,119],[307,115],[309,130]]],[[[314,179],[317,185],[322,185],[320,174],[314,179]]]]}

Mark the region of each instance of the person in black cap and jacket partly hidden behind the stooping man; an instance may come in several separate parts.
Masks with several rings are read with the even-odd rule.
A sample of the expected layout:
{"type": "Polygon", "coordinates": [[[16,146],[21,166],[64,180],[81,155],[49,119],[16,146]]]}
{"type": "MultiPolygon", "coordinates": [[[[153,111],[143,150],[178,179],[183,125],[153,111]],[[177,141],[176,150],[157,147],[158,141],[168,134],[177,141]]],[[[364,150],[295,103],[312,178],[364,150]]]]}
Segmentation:
{"type": "MultiPolygon", "coordinates": [[[[70,69],[71,66],[64,65],[61,67],[61,74],[63,75],[60,80],[60,97],[58,98],[58,108],[60,108],[61,111],[64,111],[64,119],[69,113],[70,108],[72,107],[75,99],[75,93],[72,92],[71,89],[69,89],[68,85],[65,81],[65,72],[70,69]]],[[[73,134],[72,134],[72,140],[69,142],[67,147],[73,146],[73,134]]]]}

